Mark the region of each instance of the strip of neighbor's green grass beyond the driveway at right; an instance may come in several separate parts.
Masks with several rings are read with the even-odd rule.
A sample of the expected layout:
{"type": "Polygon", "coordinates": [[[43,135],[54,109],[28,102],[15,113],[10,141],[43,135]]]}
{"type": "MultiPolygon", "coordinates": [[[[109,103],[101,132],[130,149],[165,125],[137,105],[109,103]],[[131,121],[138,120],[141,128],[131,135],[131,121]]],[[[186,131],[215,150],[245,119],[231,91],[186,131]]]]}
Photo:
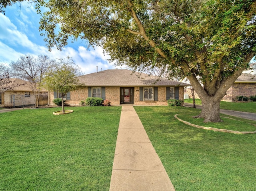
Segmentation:
{"type": "MultiPolygon", "coordinates": [[[[195,99],[197,105],[202,105],[202,102],[200,99],[195,99]]],[[[185,103],[193,103],[193,99],[185,99],[185,103]]],[[[220,108],[221,109],[228,109],[228,110],[234,110],[234,111],[242,111],[242,112],[250,112],[250,113],[256,113],[256,102],[226,102],[221,101],[220,102],[220,108]]]]}

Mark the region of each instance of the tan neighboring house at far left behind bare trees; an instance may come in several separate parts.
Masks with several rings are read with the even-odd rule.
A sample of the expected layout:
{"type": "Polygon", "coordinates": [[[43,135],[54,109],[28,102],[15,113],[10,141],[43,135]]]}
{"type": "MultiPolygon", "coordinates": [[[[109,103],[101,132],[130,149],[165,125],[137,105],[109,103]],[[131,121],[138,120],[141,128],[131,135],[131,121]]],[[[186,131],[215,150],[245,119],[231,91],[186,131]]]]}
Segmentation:
{"type": "MultiPolygon", "coordinates": [[[[31,91],[31,88],[28,84],[28,81],[24,81],[17,78],[11,78],[12,84],[19,85],[13,88],[13,90],[6,91],[0,94],[0,106],[27,106],[34,104],[34,95],[31,91]]],[[[39,105],[48,104],[48,92],[40,92],[40,102],[39,105]]]]}

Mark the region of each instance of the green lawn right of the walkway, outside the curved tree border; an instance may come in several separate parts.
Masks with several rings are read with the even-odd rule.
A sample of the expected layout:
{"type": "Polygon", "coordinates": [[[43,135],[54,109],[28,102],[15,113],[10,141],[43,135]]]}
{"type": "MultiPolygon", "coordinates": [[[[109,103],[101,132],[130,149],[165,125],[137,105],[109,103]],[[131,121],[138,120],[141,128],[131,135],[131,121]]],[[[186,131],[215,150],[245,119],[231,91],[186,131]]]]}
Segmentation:
{"type": "Polygon", "coordinates": [[[135,109],[176,191],[255,190],[256,134],[203,130],[174,118],[192,108],[135,109]]]}

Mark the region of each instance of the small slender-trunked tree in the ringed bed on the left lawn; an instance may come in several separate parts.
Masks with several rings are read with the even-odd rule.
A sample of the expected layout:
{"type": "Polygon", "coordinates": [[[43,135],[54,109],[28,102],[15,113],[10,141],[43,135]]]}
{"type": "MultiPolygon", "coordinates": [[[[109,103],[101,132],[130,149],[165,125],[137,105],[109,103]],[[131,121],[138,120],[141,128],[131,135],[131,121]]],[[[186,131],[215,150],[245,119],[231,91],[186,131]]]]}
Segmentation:
{"type": "Polygon", "coordinates": [[[44,86],[49,91],[56,91],[61,95],[62,112],[64,113],[64,96],[79,85],[77,77],[81,74],[72,58],[59,59],[54,68],[44,78],[44,86]]]}

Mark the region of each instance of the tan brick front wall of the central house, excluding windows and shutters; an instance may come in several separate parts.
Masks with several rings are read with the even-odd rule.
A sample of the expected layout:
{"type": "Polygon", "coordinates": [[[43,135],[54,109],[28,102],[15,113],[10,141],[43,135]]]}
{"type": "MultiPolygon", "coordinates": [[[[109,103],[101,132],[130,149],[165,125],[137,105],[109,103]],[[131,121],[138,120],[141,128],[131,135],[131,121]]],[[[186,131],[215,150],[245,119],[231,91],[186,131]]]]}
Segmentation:
{"type": "MultiPolygon", "coordinates": [[[[120,87],[105,87],[106,99],[110,100],[111,105],[120,105],[120,87]]],[[[66,100],[66,105],[79,105],[81,100],[88,97],[88,87],[81,87],[70,92],[70,100],[66,100]]],[[[184,88],[179,88],[180,100],[184,100],[184,88]]],[[[54,105],[52,100],[54,93],[49,93],[49,103],[54,105]]],[[[134,87],[134,105],[167,105],[166,87],[158,87],[158,101],[140,101],[140,87],[134,87]]]]}

